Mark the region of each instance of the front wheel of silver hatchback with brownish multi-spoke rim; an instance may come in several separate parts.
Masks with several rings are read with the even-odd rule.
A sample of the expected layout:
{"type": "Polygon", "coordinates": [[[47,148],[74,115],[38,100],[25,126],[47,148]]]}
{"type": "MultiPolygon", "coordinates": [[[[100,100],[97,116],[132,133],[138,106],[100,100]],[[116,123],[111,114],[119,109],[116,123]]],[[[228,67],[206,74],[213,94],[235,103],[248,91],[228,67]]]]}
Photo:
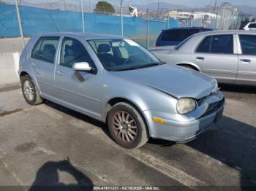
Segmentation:
{"type": "Polygon", "coordinates": [[[115,104],[108,113],[108,129],[117,144],[127,149],[139,148],[148,141],[146,123],[130,104],[115,104]]]}

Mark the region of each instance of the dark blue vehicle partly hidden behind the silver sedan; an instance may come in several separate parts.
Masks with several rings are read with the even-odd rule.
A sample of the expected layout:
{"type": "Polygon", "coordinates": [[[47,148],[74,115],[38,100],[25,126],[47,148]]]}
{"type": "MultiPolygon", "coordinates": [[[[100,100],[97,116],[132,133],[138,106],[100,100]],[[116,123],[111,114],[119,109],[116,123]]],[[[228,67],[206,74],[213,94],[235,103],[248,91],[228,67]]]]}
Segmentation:
{"type": "Polygon", "coordinates": [[[212,31],[211,28],[203,27],[184,27],[184,28],[170,28],[162,30],[157,38],[157,42],[154,44],[153,49],[162,46],[176,46],[187,37],[197,34],[203,31],[212,31]]]}

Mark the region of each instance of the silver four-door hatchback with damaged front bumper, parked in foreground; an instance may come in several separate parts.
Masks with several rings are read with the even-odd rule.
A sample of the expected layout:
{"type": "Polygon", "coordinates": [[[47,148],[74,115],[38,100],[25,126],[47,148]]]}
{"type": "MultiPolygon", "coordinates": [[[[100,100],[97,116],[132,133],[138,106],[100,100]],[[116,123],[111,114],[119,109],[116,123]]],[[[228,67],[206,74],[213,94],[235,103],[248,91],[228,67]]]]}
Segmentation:
{"type": "Polygon", "coordinates": [[[162,63],[122,36],[31,37],[20,57],[20,82],[31,105],[44,99],[106,122],[123,147],[148,137],[190,141],[222,116],[217,81],[162,63]]]}

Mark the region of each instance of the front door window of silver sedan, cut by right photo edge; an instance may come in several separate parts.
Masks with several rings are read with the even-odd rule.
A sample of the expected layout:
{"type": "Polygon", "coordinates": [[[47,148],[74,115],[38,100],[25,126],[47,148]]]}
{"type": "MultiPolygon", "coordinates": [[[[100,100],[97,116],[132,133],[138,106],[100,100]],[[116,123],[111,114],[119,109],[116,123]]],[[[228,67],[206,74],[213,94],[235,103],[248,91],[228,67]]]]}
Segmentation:
{"type": "Polygon", "coordinates": [[[243,55],[256,55],[256,35],[239,35],[243,55]]]}

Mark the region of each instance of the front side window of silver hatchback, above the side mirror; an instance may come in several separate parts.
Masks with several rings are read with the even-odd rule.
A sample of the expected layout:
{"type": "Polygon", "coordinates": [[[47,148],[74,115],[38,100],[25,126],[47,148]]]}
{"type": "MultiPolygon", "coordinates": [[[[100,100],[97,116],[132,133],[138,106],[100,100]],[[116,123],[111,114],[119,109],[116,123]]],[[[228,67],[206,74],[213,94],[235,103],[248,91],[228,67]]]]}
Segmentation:
{"type": "Polygon", "coordinates": [[[59,65],[72,68],[74,63],[80,62],[87,62],[91,66],[94,66],[94,63],[83,44],[76,39],[65,37],[61,44],[59,65]]]}

